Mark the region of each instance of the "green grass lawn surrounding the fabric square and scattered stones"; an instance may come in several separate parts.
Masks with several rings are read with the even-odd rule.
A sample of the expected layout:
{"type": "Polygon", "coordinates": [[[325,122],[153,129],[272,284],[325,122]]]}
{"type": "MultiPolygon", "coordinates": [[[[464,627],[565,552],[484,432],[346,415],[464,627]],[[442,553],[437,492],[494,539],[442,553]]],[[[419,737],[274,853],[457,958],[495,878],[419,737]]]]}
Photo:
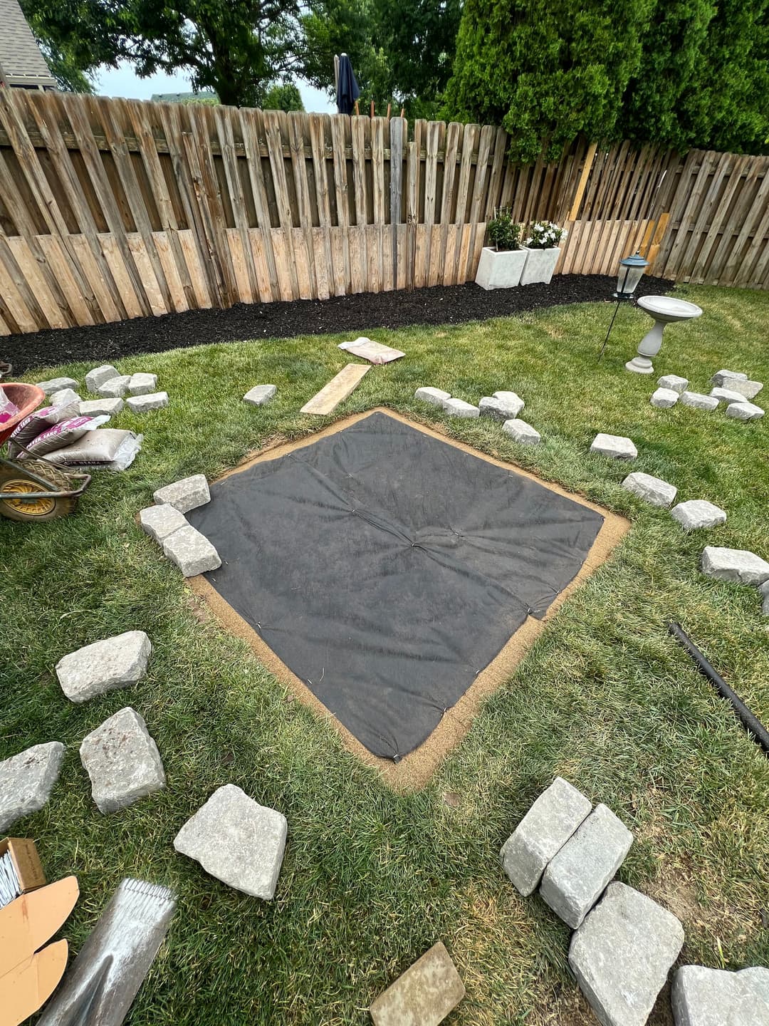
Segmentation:
{"type": "MultiPolygon", "coordinates": [[[[769,294],[690,286],[678,294],[704,314],[665,329],[656,373],[681,373],[706,392],[719,368],[744,370],[767,383],[763,405],[769,294]]],[[[76,950],[123,876],[178,895],[132,1026],[363,1024],[372,998],[439,939],[468,988],[448,1020],[455,1026],[592,1021],[567,968],[569,931],[538,897],[521,899],[498,865],[502,841],[557,774],[633,829],[619,878],[681,916],[682,961],[769,962],[769,759],[666,633],[669,620],[680,621],[769,723],[769,620],[758,593],[698,570],[706,544],[769,557],[769,417],[742,424],[723,408],[653,408],[654,379],[622,367],[649,319],[621,309],[599,364],[610,315],[608,305],[588,305],[372,331],[406,357],[369,371],[336,411],[388,405],[633,521],[418,793],[393,793],[350,755],[331,725],[206,618],[134,521],[160,485],[198,472],[215,478],[268,440],[330,423],[297,410],[348,362],[336,348],[342,337],[120,360],[121,372],[156,371],[170,396],[166,409],[114,419],[145,434],[133,467],[94,475],[74,516],[39,526],[0,519],[0,757],[67,745],[48,805],[13,832],[37,840],[49,879],[77,874],[81,899],[63,932],[76,950]],[[262,382],[278,386],[277,398],[246,406],[243,393],[262,382]],[[448,422],[414,402],[419,385],[474,402],[515,390],[543,444],[517,446],[498,424],[448,422]],[[589,455],[598,431],[630,435],[639,449],[633,469],[676,484],[681,500],[713,501],[727,523],[684,535],[667,512],[620,488],[626,464],[589,455]],[[132,629],[153,641],[149,677],[69,702],[57,660],[132,629]],[[168,786],[102,816],[78,746],[126,705],[146,718],[168,786]],[[288,819],[272,903],[228,889],[173,851],[180,825],[225,783],[288,819]],[[458,803],[444,800],[448,792],[458,803]]],[[[82,382],[89,369],[54,366],[51,357],[28,380],[55,372],[82,382]]]]}

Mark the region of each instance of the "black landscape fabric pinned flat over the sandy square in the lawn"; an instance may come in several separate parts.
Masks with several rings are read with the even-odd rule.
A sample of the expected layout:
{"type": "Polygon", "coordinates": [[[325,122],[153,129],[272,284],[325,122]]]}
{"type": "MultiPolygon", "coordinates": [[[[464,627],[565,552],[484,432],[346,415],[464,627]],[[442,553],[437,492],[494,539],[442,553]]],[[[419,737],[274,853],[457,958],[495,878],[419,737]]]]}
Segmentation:
{"type": "Polygon", "coordinates": [[[423,742],[603,517],[375,412],[211,487],[188,514],[218,594],[374,755],[423,742]]]}

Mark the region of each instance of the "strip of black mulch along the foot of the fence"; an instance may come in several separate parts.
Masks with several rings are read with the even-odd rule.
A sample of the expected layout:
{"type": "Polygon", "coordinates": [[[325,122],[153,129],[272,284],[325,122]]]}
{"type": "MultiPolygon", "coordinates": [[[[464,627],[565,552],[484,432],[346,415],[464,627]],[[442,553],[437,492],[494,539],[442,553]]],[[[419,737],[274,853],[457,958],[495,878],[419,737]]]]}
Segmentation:
{"type": "MultiPolygon", "coordinates": [[[[673,285],[666,278],[644,277],[637,294],[667,292],[673,285]]],[[[292,303],[241,303],[229,310],[191,310],[163,317],[8,336],[0,338],[0,361],[12,363],[16,376],[33,367],[76,360],[104,362],[132,353],[160,353],[215,342],[360,333],[408,324],[461,324],[566,303],[608,302],[615,287],[614,277],[567,274],[557,275],[549,285],[522,285],[488,292],[469,282],[412,292],[364,292],[292,303]]]]}

